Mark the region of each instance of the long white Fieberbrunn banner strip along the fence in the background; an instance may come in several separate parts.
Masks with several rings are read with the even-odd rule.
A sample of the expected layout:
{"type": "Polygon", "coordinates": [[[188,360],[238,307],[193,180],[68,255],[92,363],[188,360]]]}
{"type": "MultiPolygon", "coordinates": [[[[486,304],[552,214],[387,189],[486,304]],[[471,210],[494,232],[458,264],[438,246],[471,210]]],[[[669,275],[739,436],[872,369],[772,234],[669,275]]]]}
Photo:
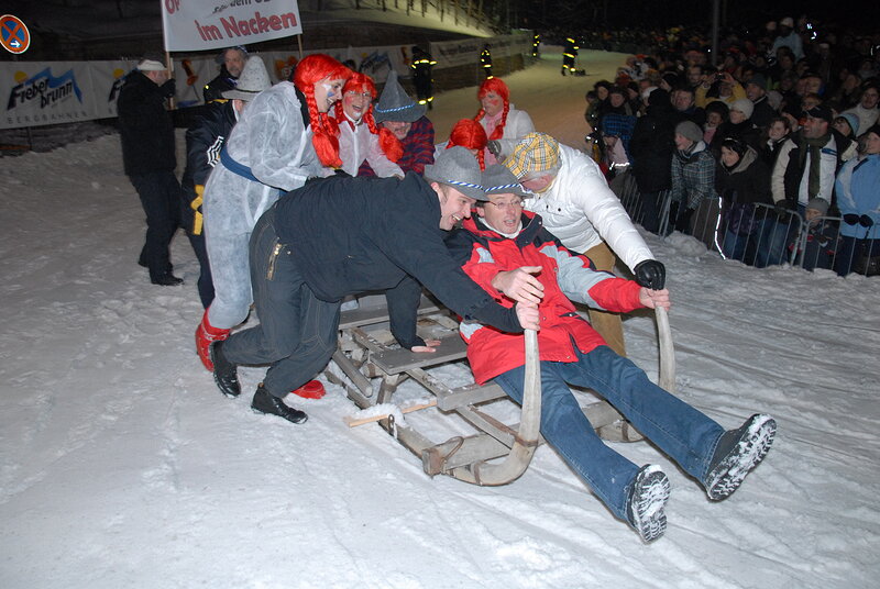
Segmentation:
{"type": "MultiPolygon", "coordinates": [[[[186,1],[186,0],[182,0],[186,1]]],[[[191,0],[190,0],[191,1],[191,0]]],[[[272,0],[274,1],[274,0],[272,0]]],[[[263,0],[262,4],[265,4],[263,0]]],[[[506,35],[431,43],[430,51],[438,68],[473,64],[477,67],[480,52],[490,44],[493,56],[531,53],[531,37],[506,35]]],[[[326,53],[348,67],[366,74],[377,85],[385,82],[394,69],[402,78],[411,75],[410,45],[380,47],[345,47],[306,52],[326,53]]],[[[264,52],[258,55],[266,64],[273,84],[286,80],[299,63],[299,52],[264,52]]],[[[138,62],[0,62],[0,129],[16,129],[57,123],[72,123],[117,115],[117,98],[125,76],[138,62]]],[[[204,102],[205,86],[220,73],[215,55],[205,54],[174,59],[177,80],[175,104],[184,109],[204,102]]]]}

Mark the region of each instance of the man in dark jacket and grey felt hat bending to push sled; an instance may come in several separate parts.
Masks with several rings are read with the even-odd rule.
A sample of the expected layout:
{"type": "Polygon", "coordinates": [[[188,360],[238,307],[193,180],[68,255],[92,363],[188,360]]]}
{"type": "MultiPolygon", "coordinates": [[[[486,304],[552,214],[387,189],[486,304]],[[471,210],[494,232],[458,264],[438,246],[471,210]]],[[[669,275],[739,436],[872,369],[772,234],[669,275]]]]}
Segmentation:
{"type": "Polygon", "coordinates": [[[241,393],[239,365],[270,364],[251,407],[301,423],[284,403],[330,360],[338,345],[342,298],[386,290],[391,330],[402,346],[433,351],[416,334],[425,285],[460,315],[506,332],[522,330],[517,308],[496,303],[470,280],[443,242],[446,232],[484,199],[476,159],[463,147],[406,178],[333,176],[285,195],[260,219],[251,241],[260,325],[215,342],[215,380],[241,393]]]}

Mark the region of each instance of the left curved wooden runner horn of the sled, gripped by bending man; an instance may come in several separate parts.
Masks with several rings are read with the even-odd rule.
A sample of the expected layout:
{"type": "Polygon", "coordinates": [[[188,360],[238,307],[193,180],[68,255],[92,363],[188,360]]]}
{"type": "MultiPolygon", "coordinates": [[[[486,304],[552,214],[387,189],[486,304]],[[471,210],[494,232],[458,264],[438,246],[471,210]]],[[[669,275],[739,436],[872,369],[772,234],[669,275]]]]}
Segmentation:
{"type": "Polygon", "coordinates": [[[457,478],[474,485],[506,485],[519,478],[528,468],[541,435],[541,365],[538,332],[526,330],[526,378],[522,392],[522,414],[519,432],[503,463],[476,463],[458,473],[457,478]]]}

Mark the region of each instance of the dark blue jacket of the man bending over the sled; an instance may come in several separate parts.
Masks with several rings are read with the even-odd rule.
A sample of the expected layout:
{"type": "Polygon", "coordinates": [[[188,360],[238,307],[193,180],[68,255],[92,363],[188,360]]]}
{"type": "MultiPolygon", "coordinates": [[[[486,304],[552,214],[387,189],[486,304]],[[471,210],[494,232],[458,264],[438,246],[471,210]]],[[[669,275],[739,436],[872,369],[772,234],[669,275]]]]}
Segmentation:
{"type": "Polygon", "coordinates": [[[389,290],[392,331],[400,345],[411,347],[421,290],[409,276],[460,315],[521,332],[515,311],[495,303],[452,258],[439,223],[437,192],[413,173],[403,180],[311,180],[275,205],[278,238],[290,247],[315,296],[338,301],[389,290]]]}

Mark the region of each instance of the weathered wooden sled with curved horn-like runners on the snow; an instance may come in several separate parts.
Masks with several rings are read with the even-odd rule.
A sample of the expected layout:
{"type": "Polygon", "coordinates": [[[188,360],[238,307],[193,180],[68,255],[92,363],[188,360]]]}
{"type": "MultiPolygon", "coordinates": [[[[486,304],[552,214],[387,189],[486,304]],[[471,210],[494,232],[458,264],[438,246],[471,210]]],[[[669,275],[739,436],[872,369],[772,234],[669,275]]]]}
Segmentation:
{"type": "MultiPolygon", "coordinates": [[[[384,297],[383,297],[384,298],[384,297]]],[[[383,412],[380,418],[367,419],[378,424],[403,446],[421,458],[429,476],[449,475],[474,485],[505,485],[518,478],[528,467],[535,448],[543,442],[540,436],[541,389],[538,364],[537,333],[526,332],[526,384],[521,408],[521,423],[507,425],[487,414],[483,404],[507,399],[501,386],[490,382],[450,388],[426,369],[465,358],[466,344],[458,333],[458,322],[431,300],[422,297],[419,316],[430,316],[451,331],[441,337],[433,354],[417,354],[383,343],[371,334],[371,327],[387,322],[384,305],[362,307],[344,311],[340,319],[340,346],[333,360],[344,374],[343,378],[328,368],[328,380],[342,386],[348,397],[362,410],[391,404],[395,411],[383,412]],[[377,389],[371,379],[378,378],[377,389]],[[457,413],[476,431],[473,435],[453,436],[436,443],[409,425],[399,422],[400,415],[414,408],[397,407],[393,396],[405,380],[413,379],[432,396],[432,400],[418,408],[437,407],[443,413],[457,413]],[[398,411],[399,410],[399,411],[398,411]],[[501,463],[496,458],[504,458],[501,463]],[[494,460],[494,462],[491,462],[494,460]]],[[[672,336],[666,311],[656,312],[660,342],[659,385],[672,391],[675,360],[672,336]]],[[[608,402],[597,400],[583,407],[583,412],[596,433],[605,440],[635,442],[639,434],[608,402]]]]}

